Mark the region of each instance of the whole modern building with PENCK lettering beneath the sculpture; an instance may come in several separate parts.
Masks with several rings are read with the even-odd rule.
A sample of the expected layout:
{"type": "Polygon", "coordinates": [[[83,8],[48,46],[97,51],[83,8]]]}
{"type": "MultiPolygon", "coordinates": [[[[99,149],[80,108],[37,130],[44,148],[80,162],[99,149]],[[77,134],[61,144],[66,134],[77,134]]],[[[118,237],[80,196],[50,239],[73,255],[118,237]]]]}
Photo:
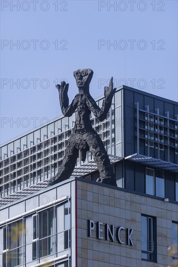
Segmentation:
{"type": "Polygon", "coordinates": [[[91,116],[118,187],[95,182],[88,153],[70,179],[46,188],[74,121],[58,117],[1,145],[0,266],[176,263],[178,103],[119,87],[107,119],[91,116]]]}

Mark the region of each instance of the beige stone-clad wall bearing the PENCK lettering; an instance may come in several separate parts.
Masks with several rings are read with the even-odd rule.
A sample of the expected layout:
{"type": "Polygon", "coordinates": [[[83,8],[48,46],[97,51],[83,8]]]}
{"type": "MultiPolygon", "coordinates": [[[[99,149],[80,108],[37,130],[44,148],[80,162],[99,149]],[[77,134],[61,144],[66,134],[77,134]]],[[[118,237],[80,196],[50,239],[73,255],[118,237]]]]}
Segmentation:
{"type": "Polygon", "coordinates": [[[178,205],[155,198],[129,193],[114,187],[77,181],[77,266],[78,267],[151,267],[168,266],[172,258],[172,221],[178,221],[178,205]],[[141,216],[157,217],[157,262],[142,260],[141,216]],[[95,228],[88,237],[88,220],[95,228]],[[106,240],[104,225],[96,237],[96,222],[114,225],[114,242],[106,240]],[[116,240],[116,230],[123,226],[133,229],[133,246],[126,244],[125,230],[116,240]]]}

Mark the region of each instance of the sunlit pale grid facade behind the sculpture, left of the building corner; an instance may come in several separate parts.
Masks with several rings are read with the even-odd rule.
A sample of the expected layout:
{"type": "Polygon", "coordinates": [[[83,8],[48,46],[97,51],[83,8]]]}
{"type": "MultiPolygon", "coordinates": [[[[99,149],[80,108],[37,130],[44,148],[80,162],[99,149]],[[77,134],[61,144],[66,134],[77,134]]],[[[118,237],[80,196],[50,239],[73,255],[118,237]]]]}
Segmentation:
{"type": "MultiPolygon", "coordinates": [[[[103,99],[96,102],[101,107],[103,99]]],[[[74,127],[75,116],[76,112],[69,118],[59,117],[44,127],[0,148],[0,198],[37,184],[56,174],[66,153],[68,140],[74,127]]],[[[114,154],[114,99],[107,118],[103,122],[99,122],[91,114],[91,124],[103,140],[107,152],[114,154]],[[112,123],[111,128],[110,121],[112,123]],[[112,149],[110,149],[110,140],[112,140],[112,149]]],[[[92,156],[89,153],[87,160],[91,159],[92,156]]],[[[81,161],[78,158],[76,165],[79,166],[80,164],[81,161]]]]}

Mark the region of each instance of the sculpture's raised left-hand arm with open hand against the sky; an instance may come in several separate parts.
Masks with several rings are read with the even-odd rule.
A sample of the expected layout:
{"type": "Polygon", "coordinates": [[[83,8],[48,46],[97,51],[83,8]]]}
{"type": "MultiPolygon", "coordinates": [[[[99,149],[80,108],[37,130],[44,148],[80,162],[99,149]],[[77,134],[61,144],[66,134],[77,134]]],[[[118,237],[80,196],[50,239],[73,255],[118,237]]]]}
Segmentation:
{"type": "Polygon", "coordinates": [[[78,100],[77,95],[69,105],[69,97],[68,97],[69,83],[66,84],[65,82],[62,82],[61,85],[57,84],[56,88],[58,89],[59,92],[59,101],[62,114],[65,117],[71,117],[77,108],[77,100],[78,100]]]}

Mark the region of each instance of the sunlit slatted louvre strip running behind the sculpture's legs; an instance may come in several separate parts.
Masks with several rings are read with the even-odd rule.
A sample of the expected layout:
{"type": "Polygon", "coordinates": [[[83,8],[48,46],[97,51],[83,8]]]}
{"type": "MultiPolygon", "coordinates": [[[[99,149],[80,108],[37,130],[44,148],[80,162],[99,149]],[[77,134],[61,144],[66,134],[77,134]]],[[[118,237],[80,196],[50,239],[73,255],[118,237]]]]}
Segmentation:
{"type": "MultiPolygon", "coordinates": [[[[114,155],[108,155],[109,156],[109,159],[110,159],[110,163],[113,164],[115,162],[118,162],[120,160],[122,160],[123,158],[121,157],[118,157],[118,156],[114,156],[114,155]]],[[[91,172],[97,170],[97,164],[94,162],[94,160],[89,160],[88,162],[85,162],[79,166],[76,166],[72,172],[72,176],[74,177],[83,177],[84,175],[86,174],[90,174],[91,172]]],[[[33,184],[29,187],[26,187],[22,190],[19,190],[18,192],[16,193],[12,193],[8,196],[5,196],[5,197],[2,197],[0,199],[0,206],[2,205],[5,205],[5,204],[8,204],[12,201],[15,201],[15,200],[18,200],[18,199],[21,199],[23,197],[26,197],[28,195],[31,195],[41,189],[44,189],[47,187],[47,184],[48,184],[48,180],[49,179],[46,179],[46,180],[43,180],[37,184],[33,184]]]]}

